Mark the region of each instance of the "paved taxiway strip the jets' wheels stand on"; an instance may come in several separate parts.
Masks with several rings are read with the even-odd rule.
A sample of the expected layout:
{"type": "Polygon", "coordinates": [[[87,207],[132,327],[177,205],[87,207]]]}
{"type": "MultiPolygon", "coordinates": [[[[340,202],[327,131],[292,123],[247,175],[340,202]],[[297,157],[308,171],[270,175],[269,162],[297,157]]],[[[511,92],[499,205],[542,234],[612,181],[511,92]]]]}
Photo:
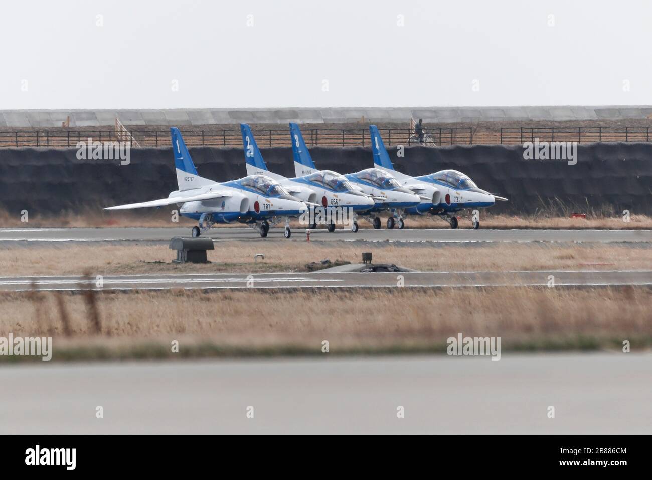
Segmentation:
{"type": "MultiPolygon", "coordinates": [[[[173,236],[190,236],[190,229],[0,229],[0,242],[90,242],[156,241],[169,242],[173,236]]],[[[271,229],[267,239],[248,228],[217,228],[209,231],[214,240],[258,240],[283,238],[282,229],[271,229]]],[[[304,230],[295,229],[290,240],[305,241],[304,230]]],[[[361,230],[352,233],[323,229],[313,231],[310,240],[367,242],[652,242],[649,230],[361,230]]]]}

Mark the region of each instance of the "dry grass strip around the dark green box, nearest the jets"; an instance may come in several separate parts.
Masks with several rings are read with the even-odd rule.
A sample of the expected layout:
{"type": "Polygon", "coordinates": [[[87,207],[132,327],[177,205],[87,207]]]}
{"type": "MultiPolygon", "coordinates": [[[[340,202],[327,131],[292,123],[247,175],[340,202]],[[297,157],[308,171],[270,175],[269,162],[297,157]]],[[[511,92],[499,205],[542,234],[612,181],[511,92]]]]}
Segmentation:
{"type": "Polygon", "coordinates": [[[156,274],[162,272],[280,272],[307,271],[305,265],[323,259],[361,261],[371,251],[375,263],[393,263],[416,270],[548,270],[604,268],[652,269],[648,244],[503,243],[450,244],[370,242],[215,242],[208,251],[211,264],[172,264],[175,252],[165,244],[53,244],[45,247],[14,246],[0,250],[3,276],[156,274]],[[256,253],[264,260],[254,261],[256,253]],[[144,263],[162,261],[164,263],[144,263]]]}

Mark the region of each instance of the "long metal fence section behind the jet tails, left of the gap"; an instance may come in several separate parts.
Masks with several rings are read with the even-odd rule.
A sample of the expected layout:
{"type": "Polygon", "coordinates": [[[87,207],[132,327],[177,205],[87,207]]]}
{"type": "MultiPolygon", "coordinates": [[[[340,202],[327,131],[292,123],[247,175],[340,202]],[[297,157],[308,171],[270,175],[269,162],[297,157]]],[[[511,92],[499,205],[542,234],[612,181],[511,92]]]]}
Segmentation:
{"type": "MultiPolygon", "coordinates": [[[[471,127],[426,129],[437,145],[473,144],[471,127]]],[[[386,145],[414,145],[418,140],[413,131],[406,128],[380,128],[386,145]]],[[[256,142],[263,147],[286,147],[291,145],[288,129],[258,129],[253,131],[256,142]]],[[[188,146],[241,147],[240,130],[182,130],[188,146]]],[[[163,147],[170,145],[170,133],[162,130],[130,129],[116,133],[115,130],[22,130],[0,131],[0,147],[74,147],[78,142],[119,141],[132,135],[138,146],[163,147]]],[[[308,146],[369,146],[369,129],[303,129],[308,146]]],[[[136,146],[132,144],[132,146],[136,146]]]]}

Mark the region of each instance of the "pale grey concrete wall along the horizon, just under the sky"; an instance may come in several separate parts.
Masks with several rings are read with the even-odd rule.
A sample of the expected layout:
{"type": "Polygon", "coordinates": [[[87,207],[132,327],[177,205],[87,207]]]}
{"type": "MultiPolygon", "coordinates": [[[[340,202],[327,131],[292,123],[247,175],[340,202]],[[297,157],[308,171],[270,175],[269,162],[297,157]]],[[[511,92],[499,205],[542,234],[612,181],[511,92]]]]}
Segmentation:
{"type": "Polygon", "coordinates": [[[0,127],[71,127],[113,125],[209,125],[211,123],[348,123],[370,121],[426,122],[483,120],[645,120],[652,106],[493,106],[424,108],[205,108],[177,110],[0,110],[0,127]]]}

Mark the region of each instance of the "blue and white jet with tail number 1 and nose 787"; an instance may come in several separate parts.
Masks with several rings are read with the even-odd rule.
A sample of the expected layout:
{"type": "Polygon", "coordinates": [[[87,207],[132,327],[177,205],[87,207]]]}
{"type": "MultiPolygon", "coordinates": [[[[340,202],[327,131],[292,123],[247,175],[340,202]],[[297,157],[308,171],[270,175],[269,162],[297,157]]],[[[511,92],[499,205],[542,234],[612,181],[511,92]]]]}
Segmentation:
{"type": "Polygon", "coordinates": [[[245,223],[265,238],[269,228],[286,219],[285,237],[289,238],[288,217],[308,210],[304,202],[289,195],[278,182],[262,174],[252,174],[230,182],[214,182],[197,174],[197,169],[181,132],[170,128],[178,190],[167,199],[112,206],[104,210],[131,210],[177,204],[179,213],[197,220],[192,236],[200,236],[217,223],[245,223]]]}

